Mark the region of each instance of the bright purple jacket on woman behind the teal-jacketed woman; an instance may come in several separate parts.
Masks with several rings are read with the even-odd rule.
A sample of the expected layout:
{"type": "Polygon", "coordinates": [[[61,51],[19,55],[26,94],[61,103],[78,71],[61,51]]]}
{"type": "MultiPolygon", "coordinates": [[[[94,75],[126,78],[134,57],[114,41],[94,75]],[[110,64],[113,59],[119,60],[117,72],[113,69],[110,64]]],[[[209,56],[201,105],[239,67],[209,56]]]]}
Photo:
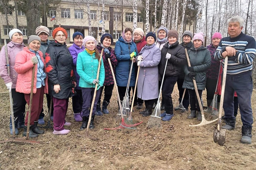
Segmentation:
{"type": "Polygon", "coordinates": [[[84,46],[82,46],[82,48],[80,48],[75,43],[73,43],[73,45],[71,45],[68,48],[68,50],[69,50],[70,54],[73,57],[73,72],[74,72],[74,75],[76,76],[76,83],[77,83],[77,86],[75,87],[75,89],[81,89],[79,87],[79,78],[80,78],[80,76],[77,74],[76,66],[77,66],[77,55],[78,55],[78,53],[81,53],[81,52],[84,51],[84,46]]]}

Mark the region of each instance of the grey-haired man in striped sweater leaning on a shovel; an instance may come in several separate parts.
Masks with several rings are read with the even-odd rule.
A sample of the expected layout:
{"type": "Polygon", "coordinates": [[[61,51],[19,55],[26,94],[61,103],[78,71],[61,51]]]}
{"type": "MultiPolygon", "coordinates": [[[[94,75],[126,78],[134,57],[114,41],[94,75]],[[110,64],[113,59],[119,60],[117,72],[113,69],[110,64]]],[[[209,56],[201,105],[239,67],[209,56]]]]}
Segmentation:
{"type": "Polygon", "coordinates": [[[222,128],[233,130],[236,124],[234,116],[234,93],[237,92],[242,126],[241,142],[251,144],[252,137],[252,63],[256,54],[256,42],[253,37],[242,33],[244,20],[234,16],[227,21],[230,37],[221,39],[214,54],[216,60],[228,57],[226,87],[223,108],[226,125],[222,128]]]}

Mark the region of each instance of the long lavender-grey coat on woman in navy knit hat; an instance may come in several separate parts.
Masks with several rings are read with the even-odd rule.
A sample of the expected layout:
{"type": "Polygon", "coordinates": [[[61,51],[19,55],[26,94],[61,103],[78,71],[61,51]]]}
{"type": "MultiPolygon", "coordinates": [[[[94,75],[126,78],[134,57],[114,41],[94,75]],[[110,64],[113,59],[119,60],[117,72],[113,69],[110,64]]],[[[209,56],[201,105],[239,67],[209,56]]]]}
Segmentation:
{"type": "Polygon", "coordinates": [[[158,64],[161,60],[161,50],[153,45],[141,49],[143,56],[140,62],[137,84],[137,97],[143,100],[158,98],[158,64]]]}

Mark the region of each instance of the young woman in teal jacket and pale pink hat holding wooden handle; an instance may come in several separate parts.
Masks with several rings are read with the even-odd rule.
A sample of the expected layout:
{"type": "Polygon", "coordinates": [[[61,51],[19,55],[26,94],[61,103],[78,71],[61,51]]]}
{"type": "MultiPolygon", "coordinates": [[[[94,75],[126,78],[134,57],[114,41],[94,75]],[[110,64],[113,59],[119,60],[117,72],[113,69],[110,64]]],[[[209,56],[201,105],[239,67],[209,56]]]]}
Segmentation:
{"type": "Polygon", "coordinates": [[[80,130],[84,130],[87,127],[89,120],[89,113],[91,102],[94,94],[95,84],[97,84],[96,98],[93,104],[92,120],[90,123],[90,129],[94,128],[94,117],[96,111],[96,105],[100,97],[100,87],[103,86],[105,79],[105,69],[103,60],[101,59],[99,78],[97,79],[97,70],[100,60],[100,54],[96,47],[96,40],[92,36],[86,36],[83,39],[83,45],[85,50],[77,55],[77,73],[80,76],[79,87],[82,88],[83,107],[82,117],[83,122],[80,130]]]}

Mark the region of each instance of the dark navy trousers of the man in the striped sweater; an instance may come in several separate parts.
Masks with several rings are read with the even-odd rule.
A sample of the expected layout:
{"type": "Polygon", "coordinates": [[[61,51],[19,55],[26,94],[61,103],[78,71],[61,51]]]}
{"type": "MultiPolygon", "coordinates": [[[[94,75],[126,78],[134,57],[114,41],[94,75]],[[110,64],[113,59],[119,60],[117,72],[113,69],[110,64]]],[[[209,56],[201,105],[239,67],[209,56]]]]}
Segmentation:
{"type": "Polygon", "coordinates": [[[241,120],[244,126],[252,127],[252,72],[247,71],[240,74],[227,74],[224,93],[223,109],[225,118],[234,116],[234,93],[236,91],[239,102],[241,120]]]}

